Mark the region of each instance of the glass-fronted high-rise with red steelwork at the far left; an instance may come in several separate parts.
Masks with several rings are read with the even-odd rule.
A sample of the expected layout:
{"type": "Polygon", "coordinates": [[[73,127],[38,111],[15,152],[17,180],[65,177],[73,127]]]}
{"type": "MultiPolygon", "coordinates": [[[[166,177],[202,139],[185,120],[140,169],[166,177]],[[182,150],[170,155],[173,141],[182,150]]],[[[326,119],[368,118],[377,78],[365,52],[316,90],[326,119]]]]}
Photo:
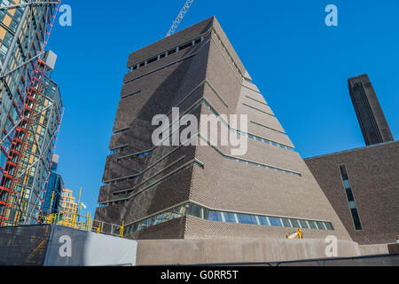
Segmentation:
{"type": "Polygon", "coordinates": [[[59,1],[0,4],[0,225],[35,224],[42,212],[63,107],[44,52],[59,1]]]}

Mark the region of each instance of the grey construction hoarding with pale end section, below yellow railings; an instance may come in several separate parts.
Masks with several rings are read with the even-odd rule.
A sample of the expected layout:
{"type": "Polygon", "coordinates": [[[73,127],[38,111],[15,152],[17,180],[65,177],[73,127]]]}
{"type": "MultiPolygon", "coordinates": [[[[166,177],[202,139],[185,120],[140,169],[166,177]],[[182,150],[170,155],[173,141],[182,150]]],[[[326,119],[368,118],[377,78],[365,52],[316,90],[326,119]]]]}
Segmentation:
{"type": "Polygon", "coordinates": [[[135,265],[137,241],[63,225],[0,227],[0,266],[135,265]]]}

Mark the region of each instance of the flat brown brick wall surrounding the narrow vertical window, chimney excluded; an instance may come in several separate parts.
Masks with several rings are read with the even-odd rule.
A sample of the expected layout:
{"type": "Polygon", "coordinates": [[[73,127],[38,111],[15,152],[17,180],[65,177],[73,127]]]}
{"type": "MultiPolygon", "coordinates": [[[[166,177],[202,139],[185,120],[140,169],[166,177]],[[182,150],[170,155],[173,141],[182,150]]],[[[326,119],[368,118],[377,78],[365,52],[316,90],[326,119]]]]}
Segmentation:
{"type": "Polygon", "coordinates": [[[399,234],[399,141],[305,159],[348,230],[359,244],[396,241],[399,234]],[[356,230],[340,164],[345,164],[362,230],[356,230]]]}

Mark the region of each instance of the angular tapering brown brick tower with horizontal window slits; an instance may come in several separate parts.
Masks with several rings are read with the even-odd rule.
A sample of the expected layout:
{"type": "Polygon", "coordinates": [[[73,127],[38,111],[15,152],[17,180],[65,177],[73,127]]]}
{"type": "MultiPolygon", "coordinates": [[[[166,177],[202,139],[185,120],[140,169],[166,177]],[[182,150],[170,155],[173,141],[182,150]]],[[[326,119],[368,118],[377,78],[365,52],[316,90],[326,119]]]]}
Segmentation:
{"type": "Polygon", "coordinates": [[[131,239],[285,239],[301,227],[351,241],[215,17],[133,52],[128,67],[96,219],[124,221],[131,239]],[[172,107],[247,114],[247,153],[153,146],[153,116],[172,107]]]}

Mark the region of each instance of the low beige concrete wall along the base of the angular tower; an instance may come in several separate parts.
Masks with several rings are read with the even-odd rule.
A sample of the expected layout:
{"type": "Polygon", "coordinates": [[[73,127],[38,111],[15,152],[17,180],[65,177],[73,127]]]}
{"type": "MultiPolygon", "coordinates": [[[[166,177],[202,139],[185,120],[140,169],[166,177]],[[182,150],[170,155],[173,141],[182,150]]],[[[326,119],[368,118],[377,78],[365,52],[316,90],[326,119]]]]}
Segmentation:
{"type": "MultiPolygon", "coordinates": [[[[325,258],[325,240],[224,239],[138,241],[137,265],[274,262],[325,258]]],[[[338,256],[359,256],[352,241],[338,242],[338,256]]]]}

